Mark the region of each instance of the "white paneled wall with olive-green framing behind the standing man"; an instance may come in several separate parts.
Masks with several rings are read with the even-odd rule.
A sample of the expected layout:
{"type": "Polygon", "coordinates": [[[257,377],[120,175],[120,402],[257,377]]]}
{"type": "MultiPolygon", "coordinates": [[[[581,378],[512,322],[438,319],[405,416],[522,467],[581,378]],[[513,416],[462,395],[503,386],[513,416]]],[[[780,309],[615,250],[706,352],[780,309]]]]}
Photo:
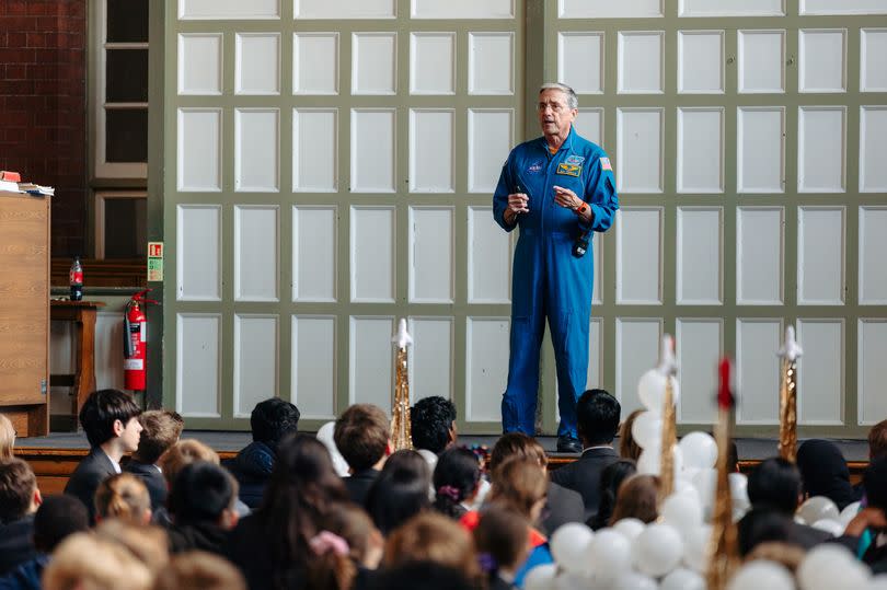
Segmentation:
{"type": "MultiPolygon", "coordinates": [[[[576,128],[608,150],[622,205],[595,240],[588,386],[638,407],[671,332],[682,424],[712,421],[714,367],[733,354],[739,425],[773,425],[793,323],[802,424],[887,415],[887,25],[842,16],[886,14],[882,0],[544,4],[528,26],[579,94],[576,128]]],[[[309,419],[388,408],[406,316],[414,400],[450,397],[497,431],[518,232],[489,195],[535,132],[526,3],[176,7],[176,407],[226,425],[275,394],[309,419]]]]}

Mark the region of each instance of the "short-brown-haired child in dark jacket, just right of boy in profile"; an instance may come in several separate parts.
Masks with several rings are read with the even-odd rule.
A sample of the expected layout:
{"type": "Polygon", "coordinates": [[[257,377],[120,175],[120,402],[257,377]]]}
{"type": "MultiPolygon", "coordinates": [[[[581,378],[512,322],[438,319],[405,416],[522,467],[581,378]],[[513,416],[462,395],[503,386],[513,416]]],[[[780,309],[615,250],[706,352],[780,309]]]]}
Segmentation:
{"type": "Polygon", "coordinates": [[[124,465],[124,471],[136,475],[148,486],[151,495],[151,510],[157,511],[166,504],[168,486],[158,461],[166,450],[178,442],[185,420],[176,412],[151,409],[139,416],[141,436],[139,446],[124,465]]]}

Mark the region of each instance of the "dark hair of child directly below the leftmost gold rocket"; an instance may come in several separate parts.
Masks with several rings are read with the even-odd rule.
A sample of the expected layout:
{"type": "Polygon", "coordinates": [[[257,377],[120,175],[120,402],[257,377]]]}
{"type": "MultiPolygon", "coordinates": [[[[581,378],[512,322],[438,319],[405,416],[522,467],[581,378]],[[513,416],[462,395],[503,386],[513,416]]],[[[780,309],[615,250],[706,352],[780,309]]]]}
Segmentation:
{"type": "Polygon", "coordinates": [[[415,451],[392,454],[367,493],[367,512],[382,534],[387,535],[431,505],[428,498],[431,483],[428,463],[422,459],[419,464],[412,459],[413,454],[422,459],[415,451]]]}

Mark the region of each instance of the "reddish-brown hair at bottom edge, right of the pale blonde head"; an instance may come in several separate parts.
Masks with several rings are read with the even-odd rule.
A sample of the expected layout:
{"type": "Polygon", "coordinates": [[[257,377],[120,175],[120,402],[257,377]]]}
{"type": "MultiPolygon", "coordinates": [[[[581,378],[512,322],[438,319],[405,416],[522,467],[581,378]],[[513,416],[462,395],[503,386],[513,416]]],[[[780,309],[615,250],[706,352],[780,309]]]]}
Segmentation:
{"type": "Polygon", "coordinates": [[[180,553],[157,576],[153,590],[246,590],[243,575],[230,562],[204,551],[180,553]]]}

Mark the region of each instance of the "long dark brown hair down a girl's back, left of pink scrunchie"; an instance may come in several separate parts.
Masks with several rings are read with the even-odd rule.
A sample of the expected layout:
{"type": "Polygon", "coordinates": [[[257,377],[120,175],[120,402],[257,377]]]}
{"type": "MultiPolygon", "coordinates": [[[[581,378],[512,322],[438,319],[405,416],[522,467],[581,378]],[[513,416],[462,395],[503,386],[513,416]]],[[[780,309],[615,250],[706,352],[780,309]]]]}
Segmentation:
{"type": "MultiPolygon", "coordinates": [[[[274,588],[289,588],[311,569],[309,541],[334,502],[347,501],[330,452],[318,439],[293,435],[280,440],[277,461],[255,518],[268,541],[274,588]]],[[[316,564],[314,564],[316,565],[316,564]]]]}

